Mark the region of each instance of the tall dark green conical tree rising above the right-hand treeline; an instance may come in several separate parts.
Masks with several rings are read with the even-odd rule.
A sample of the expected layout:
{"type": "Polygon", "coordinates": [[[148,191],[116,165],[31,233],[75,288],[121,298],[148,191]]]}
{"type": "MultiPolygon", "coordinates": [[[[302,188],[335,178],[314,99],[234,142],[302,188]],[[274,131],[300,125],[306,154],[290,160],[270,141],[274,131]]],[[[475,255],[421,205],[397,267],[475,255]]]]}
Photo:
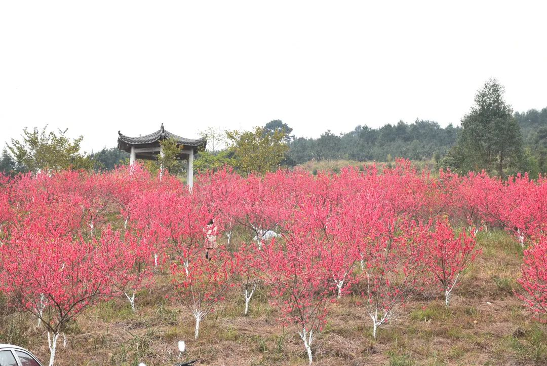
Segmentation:
{"type": "Polygon", "coordinates": [[[504,88],[498,80],[488,80],[475,95],[475,106],[462,119],[462,130],[456,146],[445,162],[452,169],[497,171],[519,167],[522,162],[522,134],[505,103],[504,88]]]}

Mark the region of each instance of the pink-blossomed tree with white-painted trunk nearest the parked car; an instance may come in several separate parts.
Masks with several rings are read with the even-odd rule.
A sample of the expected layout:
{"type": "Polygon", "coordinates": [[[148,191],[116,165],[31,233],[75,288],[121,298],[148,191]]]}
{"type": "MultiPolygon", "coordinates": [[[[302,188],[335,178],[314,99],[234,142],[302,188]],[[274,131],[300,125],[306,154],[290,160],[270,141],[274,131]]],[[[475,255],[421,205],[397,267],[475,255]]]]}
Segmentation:
{"type": "Polygon", "coordinates": [[[0,246],[3,291],[48,331],[49,366],[57,338],[88,306],[112,297],[119,236],[109,229],[92,242],[73,241],[46,223],[28,223],[0,246]]]}

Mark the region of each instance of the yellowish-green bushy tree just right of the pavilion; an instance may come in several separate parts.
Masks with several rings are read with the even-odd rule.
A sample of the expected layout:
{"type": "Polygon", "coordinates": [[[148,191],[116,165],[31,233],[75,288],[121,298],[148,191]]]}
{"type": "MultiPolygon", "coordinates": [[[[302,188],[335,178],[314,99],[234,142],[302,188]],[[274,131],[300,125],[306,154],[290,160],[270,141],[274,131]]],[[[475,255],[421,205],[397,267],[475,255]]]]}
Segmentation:
{"type": "Polygon", "coordinates": [[[283,131],[266,132],[264,127],[254,127],[254,131],[226,131],[236,166],[245,173],[264,174],[278,169],[289,150],[285,136],[283,131]]]}

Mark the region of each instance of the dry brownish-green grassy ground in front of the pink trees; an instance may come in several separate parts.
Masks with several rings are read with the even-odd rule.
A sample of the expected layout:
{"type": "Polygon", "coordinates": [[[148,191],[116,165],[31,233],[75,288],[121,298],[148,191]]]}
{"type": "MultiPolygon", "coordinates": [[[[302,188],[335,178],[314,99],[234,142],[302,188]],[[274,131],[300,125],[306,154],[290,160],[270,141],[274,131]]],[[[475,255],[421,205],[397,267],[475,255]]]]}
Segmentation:
{"type": "MultiPolygon", "coordinates": [[[[368,316],[346,297],[313,344],[317,365],[532,365],[547,364],[547,326],[513,295],[522,249],[501,231],[480,233],[482,253],[455,289],[449,308],[433,294],[416,294],[374,340],[368,316]]],[[[278,325],[262,289],[242,316],[243,298],[233,289],[226,303],[202,323],[194,341],[194,319],[165,299],[168,276],[137,295],[132,313],[124,299],[100,304],[78,318],[67,346],[60,338],[59,365],[172,365],[177,341],[183,359],[205,365],[305,365],[294,328],[278,325]]],[[[0,342],[30,348],[46,361],[43,329],[26,313],[0,309],[0,342]]]]}

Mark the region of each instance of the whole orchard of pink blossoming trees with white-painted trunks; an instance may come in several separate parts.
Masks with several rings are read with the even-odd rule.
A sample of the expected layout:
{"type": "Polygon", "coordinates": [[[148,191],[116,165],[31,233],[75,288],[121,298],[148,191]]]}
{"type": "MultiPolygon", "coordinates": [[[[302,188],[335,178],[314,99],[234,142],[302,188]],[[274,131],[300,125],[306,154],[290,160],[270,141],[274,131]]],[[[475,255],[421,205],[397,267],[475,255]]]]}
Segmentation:
{"type": "Polygon", "coordinates": [[[450,306],[478,253],[476,233],[502,228],[526,248],[516,295],[544,319],[546,179],[433,177],[404,160],[381,168],[220,170],[197,176],[191,191],[139,165],[0,176],[1,291],[44,328],[53,365],[80,313],[113,297],[138,311],[136,294],[155,276],[171,278],[169,301],[195,318],[196,339],[203,319],[222,316],[226,294],[242,292],[245,316],[264,286],[312,363],[338,299],[359,299],[374,337],[413,294],[435,291],[450,306]],[[206,259],[211,219],[225,245],[206,259]]]}

